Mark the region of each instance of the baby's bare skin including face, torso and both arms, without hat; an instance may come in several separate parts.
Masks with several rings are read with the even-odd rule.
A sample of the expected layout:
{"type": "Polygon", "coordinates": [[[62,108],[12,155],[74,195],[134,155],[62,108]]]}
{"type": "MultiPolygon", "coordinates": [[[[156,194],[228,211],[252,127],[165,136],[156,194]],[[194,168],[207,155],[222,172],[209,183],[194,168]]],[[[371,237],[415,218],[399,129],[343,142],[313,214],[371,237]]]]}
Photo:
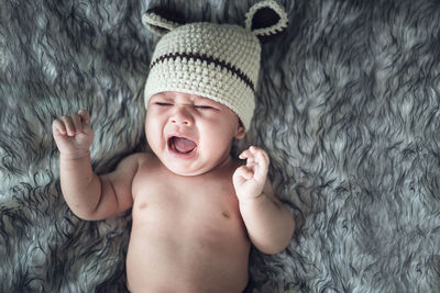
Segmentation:
{"type": "Polygon", "coordinates": [[[267,180],[267,155],[251,147],[241,154],[245,165],[230,157],[244,129],[219,103],[177,92],[153,97],[145,133],[154,154],[131,155],[101,177],[90,166],[87,111],[55,120],[53,133],[63,195],[78,217],[133,207],[131,292],[242,292],[251,243],[277,253],[293,236],[295,222],[267,180]]]}

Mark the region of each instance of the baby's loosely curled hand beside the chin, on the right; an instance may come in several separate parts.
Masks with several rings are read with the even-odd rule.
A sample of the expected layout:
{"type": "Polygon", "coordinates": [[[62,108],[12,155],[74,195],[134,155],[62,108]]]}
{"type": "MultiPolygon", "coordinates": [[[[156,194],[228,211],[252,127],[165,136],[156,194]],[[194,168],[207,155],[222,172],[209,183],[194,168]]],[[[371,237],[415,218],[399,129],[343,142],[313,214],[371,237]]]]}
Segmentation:
{"type": "Polygon", "coordinates": [[[244,150],[240,159],[248,159],[246,166],[239,167],[232,182],[239,201],[258,198],[267,178],[268,156],[258,147],[251,146],[244,150]]]}

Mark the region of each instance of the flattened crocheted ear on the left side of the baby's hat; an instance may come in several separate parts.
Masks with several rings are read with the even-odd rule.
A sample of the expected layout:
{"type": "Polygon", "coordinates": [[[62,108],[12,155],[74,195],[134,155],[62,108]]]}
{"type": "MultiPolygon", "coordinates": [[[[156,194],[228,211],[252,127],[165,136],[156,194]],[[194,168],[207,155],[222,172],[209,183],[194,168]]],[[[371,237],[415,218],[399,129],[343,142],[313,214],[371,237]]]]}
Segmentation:
{"type": "Polygon", "coordinates": [[[142,23],[160,36],[185,24],[185,18],[179,12],[162,7],[148,9],[142,15],[142,23]]]}

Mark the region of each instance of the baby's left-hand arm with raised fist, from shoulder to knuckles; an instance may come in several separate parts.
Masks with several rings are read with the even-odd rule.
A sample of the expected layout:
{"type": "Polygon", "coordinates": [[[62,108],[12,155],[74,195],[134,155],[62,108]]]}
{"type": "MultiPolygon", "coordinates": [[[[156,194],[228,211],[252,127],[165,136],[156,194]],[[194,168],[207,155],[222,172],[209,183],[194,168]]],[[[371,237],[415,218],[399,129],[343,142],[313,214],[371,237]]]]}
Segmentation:
{"type": "Polygon", "coordinates": [[[98,177],[90,162],[94,132],[89,121],[88,112],[82,110],[55,120],[52,128],[61,153],[63,195],[75,215],[97,221],[132,206],[131,183],[138,170],[138,157],[130,156],[113,172],[98,177]]]}

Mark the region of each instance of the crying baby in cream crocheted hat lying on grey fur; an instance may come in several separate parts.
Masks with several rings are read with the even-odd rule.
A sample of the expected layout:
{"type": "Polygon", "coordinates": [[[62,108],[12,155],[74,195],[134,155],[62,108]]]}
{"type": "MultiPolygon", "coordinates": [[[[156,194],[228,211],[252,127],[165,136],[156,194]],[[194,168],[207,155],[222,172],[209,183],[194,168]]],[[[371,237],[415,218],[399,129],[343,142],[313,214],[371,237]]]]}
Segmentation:
{"type": "MultiPolygon", "coordinates": [[[[158,18],[148,11],[143,20],[157,26],[158,18]]],[[[252,146],[240,155],[245,164],[230,155],[252,119],[258,67],[250,30],[176,24],[158,42],[145,84],[152,154],[131,155],[103,176],[91,169],[89,113],[53,122],[70,210],[98,221],[132,209],[131,292],[242,292],[251,244],[264,253],[289,244],[295,222],[267,180],[267,154],[252,146]]]]}

